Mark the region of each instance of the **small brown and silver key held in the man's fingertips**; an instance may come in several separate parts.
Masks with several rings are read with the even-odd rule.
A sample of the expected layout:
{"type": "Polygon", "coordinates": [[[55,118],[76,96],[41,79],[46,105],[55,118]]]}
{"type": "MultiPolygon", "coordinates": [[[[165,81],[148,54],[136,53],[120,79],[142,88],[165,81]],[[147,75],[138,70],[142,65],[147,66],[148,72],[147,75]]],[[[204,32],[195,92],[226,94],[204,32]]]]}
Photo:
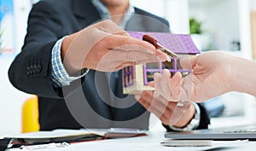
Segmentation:
{"type": "MultiPolygon", "coordinates": [[[[158,43],[158,41],[155,38],[153,38],[152,36],[150,36],[150,35],[143,35],[143,40],[147,41],[150,44],[153,44],[156,49],[160,49],[161,51],[163,51],[167,55],[172,56],[172,58],[177,59],[177,54],[172,52],[170,49],[166,49],[163,45],[158,43]]],[[[171,61],[171,59],[168,58],[167,61],[171,61]]]]}

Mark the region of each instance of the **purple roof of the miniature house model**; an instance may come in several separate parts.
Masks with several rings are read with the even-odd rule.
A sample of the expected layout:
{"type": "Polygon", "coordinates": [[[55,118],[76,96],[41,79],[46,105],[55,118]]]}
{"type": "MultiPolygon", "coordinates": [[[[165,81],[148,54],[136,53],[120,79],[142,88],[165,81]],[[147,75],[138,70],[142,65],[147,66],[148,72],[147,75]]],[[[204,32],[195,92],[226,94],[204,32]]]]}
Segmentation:
{"type": "Polygon", "coordinates": [[[148,34],[157,39],[166,49],[170,49],[176,54],[199,54],[189,34],[172,34],[169,32],[129,32],[131,37],[143,40],[143,35],[148,34]]]}

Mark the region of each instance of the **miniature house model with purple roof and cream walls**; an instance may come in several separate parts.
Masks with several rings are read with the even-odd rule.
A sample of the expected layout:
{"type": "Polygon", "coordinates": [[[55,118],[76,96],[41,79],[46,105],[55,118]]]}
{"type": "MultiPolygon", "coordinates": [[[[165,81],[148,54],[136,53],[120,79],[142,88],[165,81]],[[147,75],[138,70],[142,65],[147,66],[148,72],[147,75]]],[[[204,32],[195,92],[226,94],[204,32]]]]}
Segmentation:
{"type": "Polygon", "coordinates": [[[123,68],[123,92],[124,94],[133,94],[137,90],[154,90],[148,86],[148,82],[154,80],[154,73],[162,73],[163,69],[168,69],[171,75],[180,72],[183,75],[190,73],[189,70],[183,70],[179,66],[179,58],[188,55],[196,55],[200,50],[196,48],[190,35],[172,34],[169,32],[129,32],[132,37],[143,39],[143,35],[148,34],[166,49],[178,55],[178,58],[172,58],[172,61],[145,63],[131,67],[123,68]]]}

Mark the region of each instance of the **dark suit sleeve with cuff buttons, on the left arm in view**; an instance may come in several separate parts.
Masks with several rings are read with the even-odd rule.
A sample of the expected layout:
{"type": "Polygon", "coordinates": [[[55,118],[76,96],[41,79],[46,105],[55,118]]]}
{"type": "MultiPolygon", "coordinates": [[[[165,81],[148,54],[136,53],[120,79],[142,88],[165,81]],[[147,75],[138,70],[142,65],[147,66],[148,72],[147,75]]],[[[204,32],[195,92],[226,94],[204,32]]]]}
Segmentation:
{"type": "Polygon", "coordinates": [[[63,37],[63,23],[48,3],[35,4],[29,15],[25,43],[9,67],[9,80],[15,88],[38,96],[58,98],[50,76],[51,51],[56,41],[63,37]]]}

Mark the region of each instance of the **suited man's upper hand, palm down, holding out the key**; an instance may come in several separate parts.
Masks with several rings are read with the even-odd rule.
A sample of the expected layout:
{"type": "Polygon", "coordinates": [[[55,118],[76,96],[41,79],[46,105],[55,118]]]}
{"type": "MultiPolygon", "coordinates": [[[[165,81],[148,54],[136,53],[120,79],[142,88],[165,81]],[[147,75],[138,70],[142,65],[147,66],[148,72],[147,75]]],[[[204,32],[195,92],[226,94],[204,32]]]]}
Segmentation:
{"type": "Polygon", "coordinates": [[[61,58],[68,73],[82,68],[113,72],[145,62],[166,61],[154,45],[131,36],[111,20],[88,26],[63,40],[61,58]]]}

